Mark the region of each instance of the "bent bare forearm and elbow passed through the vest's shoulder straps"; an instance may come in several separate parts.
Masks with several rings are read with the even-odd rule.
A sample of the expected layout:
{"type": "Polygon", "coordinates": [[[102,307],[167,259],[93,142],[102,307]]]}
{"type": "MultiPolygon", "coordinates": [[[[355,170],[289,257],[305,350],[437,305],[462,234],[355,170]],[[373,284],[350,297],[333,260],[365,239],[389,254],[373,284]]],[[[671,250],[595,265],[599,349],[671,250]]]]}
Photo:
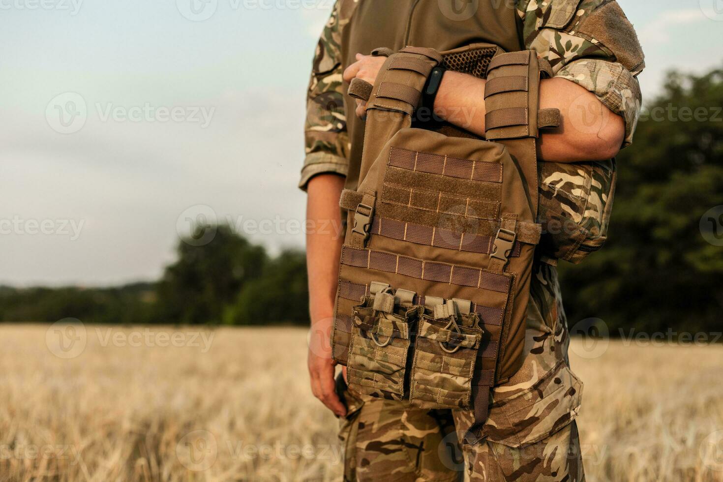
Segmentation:
{"type": "MultiPolygon", "coordinates": [[[[484,137],[484,79],[447,72],[435,100],[435,115],[484,137]]],[[[543,160],[580,162],[614,157],[625,136],[623,118],[593,93],[566,79],[543,79],[540,108],[558,108],[562,125],[544,129],[538,141],[543,160]]]]}

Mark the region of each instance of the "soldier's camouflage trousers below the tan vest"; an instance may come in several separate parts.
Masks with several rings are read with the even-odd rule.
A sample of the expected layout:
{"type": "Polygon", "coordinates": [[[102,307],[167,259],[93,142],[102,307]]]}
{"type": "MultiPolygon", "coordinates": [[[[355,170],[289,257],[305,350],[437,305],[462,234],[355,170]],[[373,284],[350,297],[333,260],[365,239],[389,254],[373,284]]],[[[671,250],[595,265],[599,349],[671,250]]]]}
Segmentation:
{"type": "Polygon", "coordinates": [[[423,410],[344,388],[344,480],[584,481],[582,383],[569,369],[565,325],[529,312],[526,361],[493,390],[485,439],[474,446],[462,443],[471,410],[423,410]]]}

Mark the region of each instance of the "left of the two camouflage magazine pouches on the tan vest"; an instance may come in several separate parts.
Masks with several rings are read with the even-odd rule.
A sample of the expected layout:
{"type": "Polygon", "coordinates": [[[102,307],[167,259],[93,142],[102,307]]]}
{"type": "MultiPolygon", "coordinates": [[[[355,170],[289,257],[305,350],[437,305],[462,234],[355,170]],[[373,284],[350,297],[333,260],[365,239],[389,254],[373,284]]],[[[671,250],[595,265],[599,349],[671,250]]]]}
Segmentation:
{"type": "Polygon", "coordinates": [[[395,313],[393,306],[382,310],[380,299],[379,295],[373,301],[367,298],[354,307],[348,382],[361,394],[401,400],[417,309],[407,309],[403,314],[395,313]]]}

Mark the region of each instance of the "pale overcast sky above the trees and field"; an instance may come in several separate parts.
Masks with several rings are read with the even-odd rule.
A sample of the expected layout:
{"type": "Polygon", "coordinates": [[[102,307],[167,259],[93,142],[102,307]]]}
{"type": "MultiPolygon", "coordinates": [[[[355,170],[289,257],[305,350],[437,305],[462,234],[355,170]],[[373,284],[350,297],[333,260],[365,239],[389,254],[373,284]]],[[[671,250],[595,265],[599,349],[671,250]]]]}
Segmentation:
{"type": "MultiPolygon", "coordinates": [[[[333,2],[192,1],[0,0],[0,284],[153,280],[189,219],[303,246],[304,93],[333,2]]],[[[723,64],[719,0],[620,4],[646,97],[723,64]]]]}

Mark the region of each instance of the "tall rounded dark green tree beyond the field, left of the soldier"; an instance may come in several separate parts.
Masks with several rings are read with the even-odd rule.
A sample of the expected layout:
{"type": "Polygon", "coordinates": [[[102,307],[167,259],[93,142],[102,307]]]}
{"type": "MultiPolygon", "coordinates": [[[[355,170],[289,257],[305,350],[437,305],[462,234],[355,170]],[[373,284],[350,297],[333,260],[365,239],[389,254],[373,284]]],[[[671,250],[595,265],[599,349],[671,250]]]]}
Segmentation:
{"type": "Polygon", "coordinates": [[[220,322],[224,306],[259,277],[268,262],[262,246],[250,244],[228,225],[197,228],[194,236],[179,242],[178,257],[158,283],[158,322],[220,322]],[[208,229],[215,229],[213,240],[194,246],[208,229]]]}

